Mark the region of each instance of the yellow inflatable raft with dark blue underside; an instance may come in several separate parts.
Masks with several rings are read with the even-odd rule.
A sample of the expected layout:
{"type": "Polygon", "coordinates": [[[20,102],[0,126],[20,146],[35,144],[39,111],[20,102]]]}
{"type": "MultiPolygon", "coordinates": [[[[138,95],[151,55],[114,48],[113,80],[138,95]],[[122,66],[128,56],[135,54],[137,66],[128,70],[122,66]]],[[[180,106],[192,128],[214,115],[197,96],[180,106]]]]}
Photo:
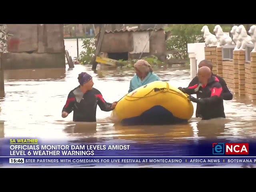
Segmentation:
{"type": "Polygon", "coordinates": [[[111,118],[122,125],[187,122],[194,108],[187,95],[168,82],[155,81],[126,94],[111,118]]]}

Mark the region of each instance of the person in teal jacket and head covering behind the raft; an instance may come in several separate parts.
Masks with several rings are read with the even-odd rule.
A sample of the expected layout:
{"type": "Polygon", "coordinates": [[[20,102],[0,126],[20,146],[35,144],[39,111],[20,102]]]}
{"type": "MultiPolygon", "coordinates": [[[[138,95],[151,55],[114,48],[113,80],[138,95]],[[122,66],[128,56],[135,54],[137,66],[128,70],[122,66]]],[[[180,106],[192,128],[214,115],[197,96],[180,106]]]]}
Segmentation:
{"type": "Polygon", "coordinates": [[[160,81],[160,78],[153,73],[151,65],[143,59],[134,64],[134,69],[136,74],[130,80],[128,93],[148,83],[160,81]]]}

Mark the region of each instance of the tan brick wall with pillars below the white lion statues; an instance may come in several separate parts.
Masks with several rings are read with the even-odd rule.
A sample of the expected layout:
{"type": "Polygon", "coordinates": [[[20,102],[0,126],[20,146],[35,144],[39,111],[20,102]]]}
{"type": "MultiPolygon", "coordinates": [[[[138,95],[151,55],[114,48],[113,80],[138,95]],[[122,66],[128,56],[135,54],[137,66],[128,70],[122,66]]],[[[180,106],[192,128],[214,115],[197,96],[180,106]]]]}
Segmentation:
{"type": "Polygon", "coordinates": [[[212,72],[221,76],[228,87],[239,95],[256,100],[256,52],[251,52],[251,62],[245,62],[245,51],[233,52],[233,60],[222,60],[222,48],[205,47],[205,59],[213,64],[212,72]]]}

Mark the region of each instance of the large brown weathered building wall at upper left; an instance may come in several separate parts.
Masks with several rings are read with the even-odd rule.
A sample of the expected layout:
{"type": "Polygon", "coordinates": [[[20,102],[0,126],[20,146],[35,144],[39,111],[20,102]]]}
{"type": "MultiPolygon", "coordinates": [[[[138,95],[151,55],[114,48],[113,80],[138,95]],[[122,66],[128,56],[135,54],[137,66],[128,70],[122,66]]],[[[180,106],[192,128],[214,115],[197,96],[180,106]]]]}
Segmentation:
{"type": "Polygon", "coordinates": [[[65,68],[63,24],[7,24],[5,69],[65,68]]]}

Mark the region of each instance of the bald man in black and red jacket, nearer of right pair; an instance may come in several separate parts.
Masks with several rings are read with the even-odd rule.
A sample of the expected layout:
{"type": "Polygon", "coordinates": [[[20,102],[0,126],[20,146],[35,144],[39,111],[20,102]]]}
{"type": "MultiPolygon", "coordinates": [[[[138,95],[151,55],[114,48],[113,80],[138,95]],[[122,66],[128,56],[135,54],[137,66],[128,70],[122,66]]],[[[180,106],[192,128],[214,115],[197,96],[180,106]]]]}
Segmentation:
{"type": "Polygon", "coordinates": [[[188,94],[188,98],[200,106],[202,120],[226,118],[219,79],[212,75],[210,68],[204,66],[198,69],[198,84],[187,88],[179,88],[188,94]],[[194,98],[192,94],[200,93],[201,98],[194,98]]]}

